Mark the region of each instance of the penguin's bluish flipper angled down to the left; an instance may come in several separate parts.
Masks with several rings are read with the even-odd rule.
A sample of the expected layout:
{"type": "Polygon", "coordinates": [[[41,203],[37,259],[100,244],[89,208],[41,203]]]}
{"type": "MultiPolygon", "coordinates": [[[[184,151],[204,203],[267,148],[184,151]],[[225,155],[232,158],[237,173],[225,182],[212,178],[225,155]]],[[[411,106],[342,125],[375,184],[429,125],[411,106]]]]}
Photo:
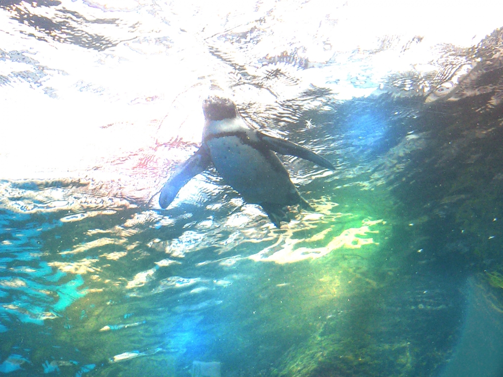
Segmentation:
{"type": "Polygon", "coordinates": [[[210,164],[210,153],[202,146],[196,154],[180,165],[164,184],[159,196],[159,206],[161,208],[169,206],[180,189],[195,175],[206,170],[210,164]]]}

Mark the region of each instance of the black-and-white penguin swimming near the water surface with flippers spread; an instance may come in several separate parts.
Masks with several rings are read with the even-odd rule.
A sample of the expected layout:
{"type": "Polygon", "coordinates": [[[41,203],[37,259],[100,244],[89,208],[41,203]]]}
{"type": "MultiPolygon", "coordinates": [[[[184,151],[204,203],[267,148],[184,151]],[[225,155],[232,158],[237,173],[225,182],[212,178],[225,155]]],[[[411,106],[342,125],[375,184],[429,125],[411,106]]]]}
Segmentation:
{"type": "Polygon", "coordinates": [[[257,131],[228,99],[210,97],[203,102],[205,124],[201,148],[179,166],[164,184],[159,205],[166,208],[179,190],[211,164],[247,203],[260,205],[276,227],[289,222],[287,206],[312,209],[299,194],[274,152],[297,156],[334,170],[325,158],[294,144],[257,131]]]}

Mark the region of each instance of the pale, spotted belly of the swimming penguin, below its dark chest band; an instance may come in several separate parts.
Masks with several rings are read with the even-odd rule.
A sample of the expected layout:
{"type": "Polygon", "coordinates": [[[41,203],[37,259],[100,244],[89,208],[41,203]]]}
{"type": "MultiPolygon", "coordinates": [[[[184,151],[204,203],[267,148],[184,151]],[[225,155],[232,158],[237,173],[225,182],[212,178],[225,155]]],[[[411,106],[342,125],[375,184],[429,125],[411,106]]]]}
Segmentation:
{"type": "Polygon", "coordinates": [[[247,202],[298,203],[299,194],[274,152],[259,151],[238,136],[215,137],[206,144],[217,171],[247,202]]]}

